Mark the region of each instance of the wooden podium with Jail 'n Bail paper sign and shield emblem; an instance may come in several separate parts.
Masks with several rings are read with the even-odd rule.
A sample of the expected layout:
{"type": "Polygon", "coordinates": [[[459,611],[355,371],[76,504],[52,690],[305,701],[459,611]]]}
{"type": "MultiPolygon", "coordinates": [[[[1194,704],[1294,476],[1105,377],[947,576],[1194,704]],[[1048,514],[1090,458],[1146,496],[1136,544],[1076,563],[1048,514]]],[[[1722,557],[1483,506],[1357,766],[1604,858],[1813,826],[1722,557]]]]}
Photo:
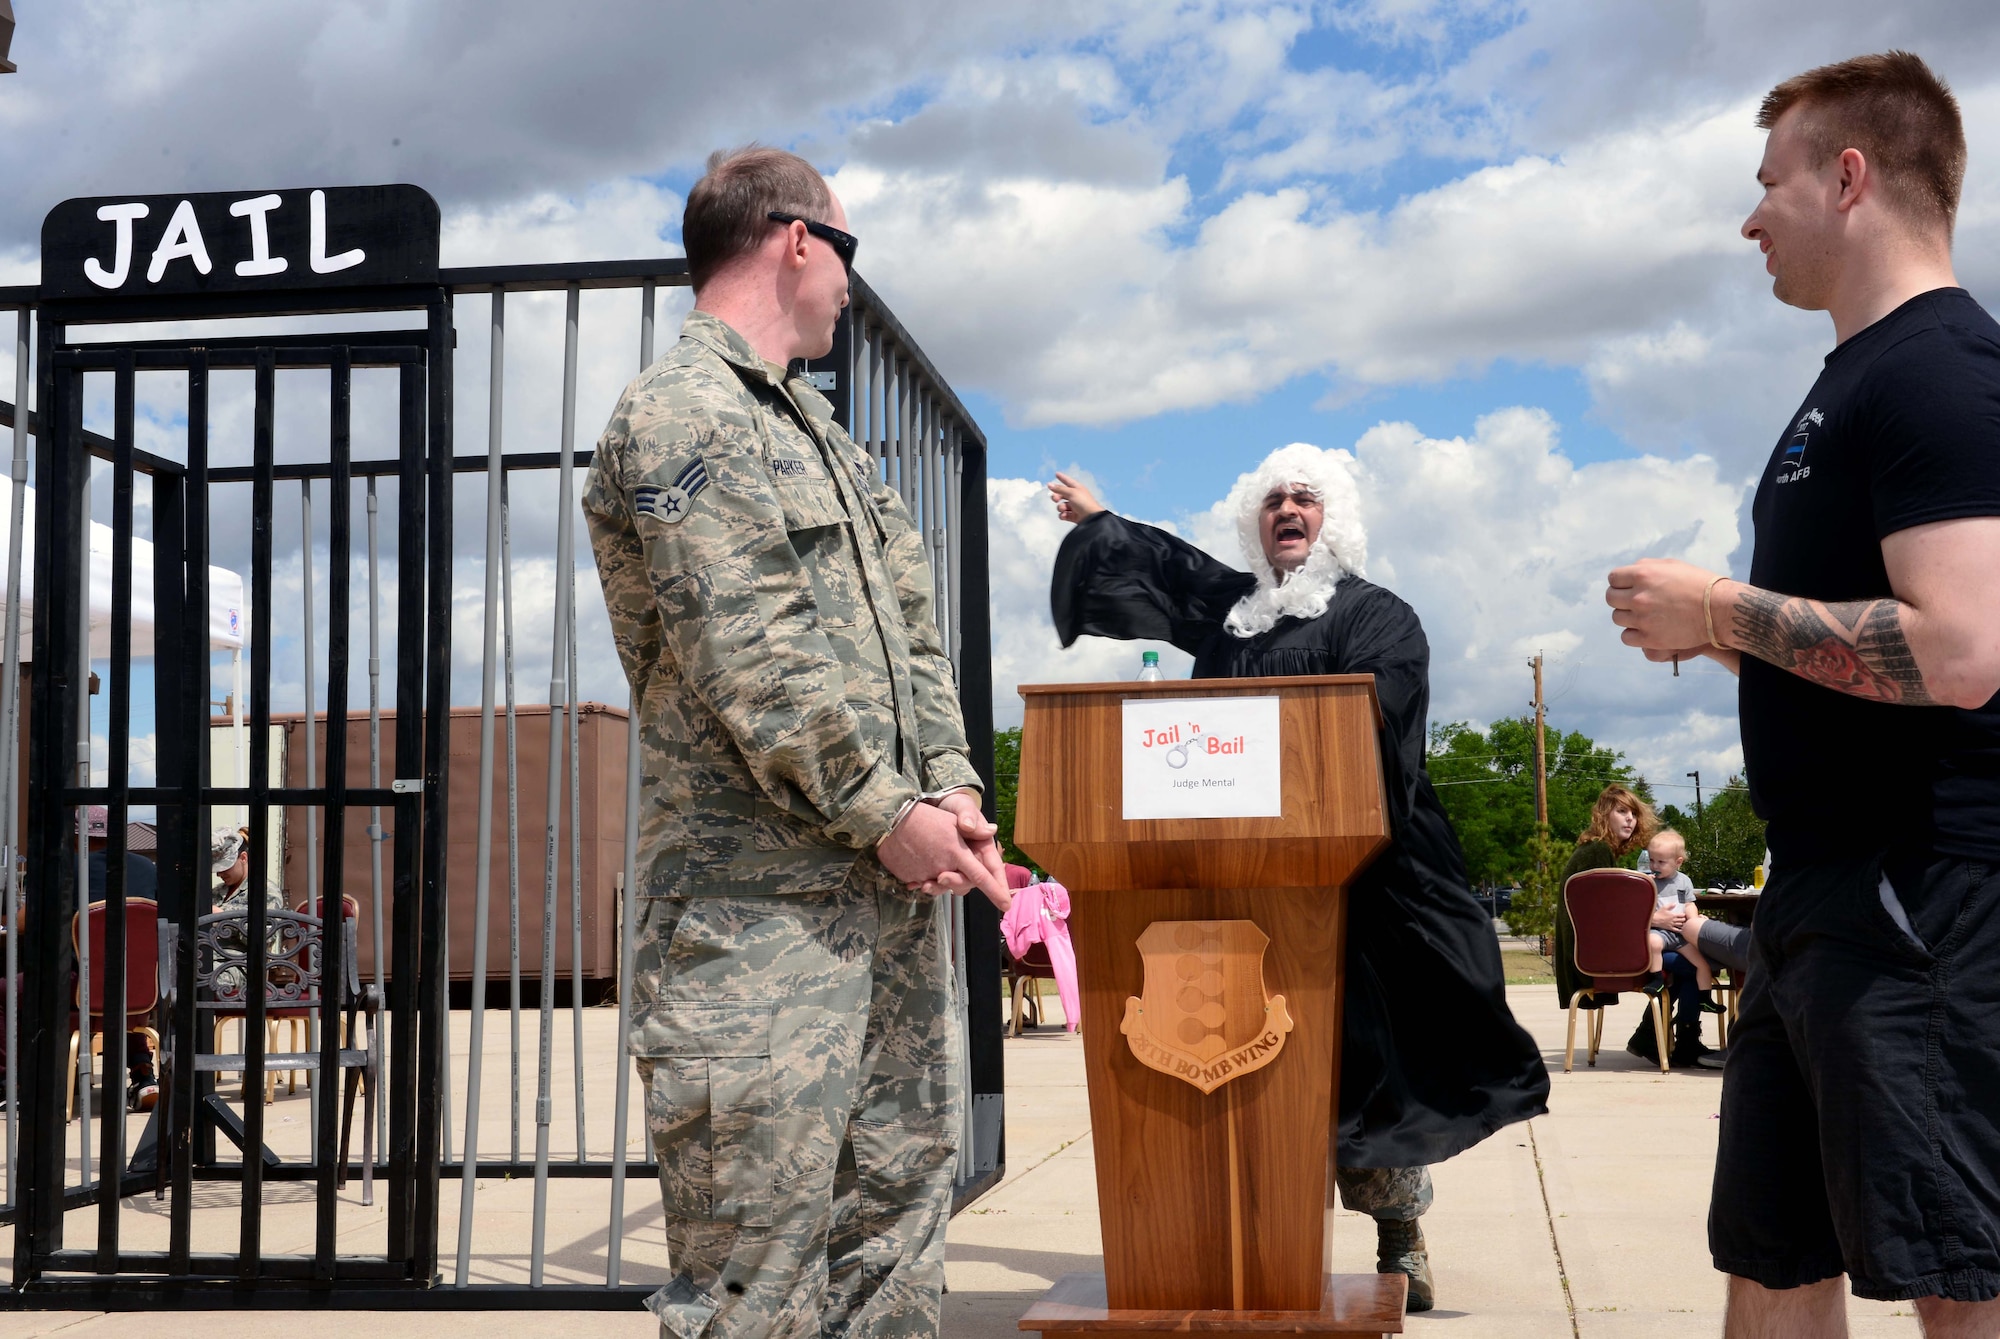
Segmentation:
{"type": "MultiPolygon", "coordinates": [[[[1070,889],[1104,1225],[1104,1273],[1064,1277],[1020,1327],[1400,1333],[1400,1273],[1328,1269],[1346,883],[1388,843],[1374,677],[1020,693],[1014,843],[1070,889]],[[1186,729],[1194,761],[1164,765],[1200,787],[1204,745],[1242,747],[1202,733],[1204,703],[1238,699],[1208,711],[1242,711],[1254,697],[1276,699],[1276,739],[1252,745],[1276,759],[1244,765],[1262,767],[1250,783],[1276,765],[1276,815],[1126,817],[1128,717],[1184,715],[1168,753],[1190,743],[1186,729]]],[[[1272,715],[1270,703],[1250,709],[1272,715]]],[[[1146,753],[1134,771],[1154,765],[1146,753]]]]}

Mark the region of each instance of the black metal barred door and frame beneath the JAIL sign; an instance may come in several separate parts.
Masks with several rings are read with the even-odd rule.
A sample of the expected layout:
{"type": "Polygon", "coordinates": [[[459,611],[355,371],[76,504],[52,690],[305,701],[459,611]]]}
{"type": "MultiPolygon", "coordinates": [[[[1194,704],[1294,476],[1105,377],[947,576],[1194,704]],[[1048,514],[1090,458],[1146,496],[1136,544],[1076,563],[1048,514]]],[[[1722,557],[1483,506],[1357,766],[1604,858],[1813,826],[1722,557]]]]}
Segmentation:
{"type": "MultiPolygon", "coordinates": [[[[22,1159],[16,1195],[16,1291],[14,1305],[54,1307],[138,1307],[172,1305],[202,1295],[208,1305],[248,1299],[270,1291],[292,1301],[318,1295],[336,1277],[366,1283],[368,1291],[402,1295],[428,1287],[436,1273],[438,1131],[442,1093],[418,1077],[436,1067],[446,1045],[442,1007],[426,983],[440,979],[444,915],[444,843],[420,841],[418,833],[444,831],[448,715],[424,709],[448,701],[450,693],[450,296],[442,286],[424,290],[348,292],[338,298],[284,294],[272,298],[160,298],[146,302],[44,302],[40,308],[38,398],[46,424],[36,454],[36,612],[34,656],[44,668],[32,679],[30,761],[28,761],[28,881],[40,905],[28,917],[28,953],[34,963],[56,967],[32,973],[34,989],[22,1003],[22,1057],[30,1075],[22,1109],[22,1159]],[[278,308],[278,310],[274,310],[278,308]],[[220,340],[154,340],[76,346],[66,340],[78,322],[202,320],[218,316],[278,316],[314,312],[420,310],[426,328],[352,336],[262,336],[220,340]],[[354,462],[348,452],[350,376],[356,366],[400,370],[398,458],[354,462]],[[254,464],[248,468],[208,466],[208,374],[246,368],[256,380],[254,464]],[[272,392],[278,368],[326,368],[332,378],[330,460],[324,464],[274,464],[272,392]],[[134,378],[140,370],[178,370],[188,376],[188,464],[186,468],[134,446],[134,378]],[[114,378],[114,430],[108,450],[82,432],[82,378],[110,372],[114,378]],[[428,450],[426,450],[428,442],[428,450]],[[106,785],[76,785],[72,759],[78,749],[78,693],[84,685],[66,664],[72,648],[88,636],[80,600],[80,542],[88,534],[84,480],[88,458],[108,456],[112,464],[112,666],[106,785]],[[152,478],[154,498],[154,608],[156,608],[156,731],[158,779],[154,787],[128,785],[130,662],[132,662],[132,496],[134,474],[152,478]],[[400,490],[398,560],[426,580],[398,582],[398,626],[402,646],[422,646],[422,656],[400,656],[396,666],[396,757],[422,759],[422,785],[388,789],[346,785],[344,731],[328,733],[326,785],[270,785],[270,590],[272,572],[272,488],[278,478],[330,480],[332,540],[336,550],[352,544],[350,490],[356,476],[396,476],[400,490]],[[248,482],[252,486],[252,588],[258,602],[250,610],[250,777],[242,787],[206,785],[208,773],[208,486],[248,482]],[[178,550],[178,552],[176,552],[178,550]],[[426,604],[428,602],[428,604],[426,604]],[[200,636],[188,630],[186,614],[200,610],[200,636]],[[408,636],[416,634],[416,636],[408,636]],[[408,709],[416,707],[416,709],[408,709]],[[320,1211],[312,1255],[264,1255],[262,1183],[264,1161],[246,1155],[240,1167],[196,1167],[198,1083],[192,1075],[196,1049],[194,951],[176,957],[180,981],[176,1015],[166,1019],[174,1051],[182,1059],[180,1081],[172,1083],[170,1143],[162,1149],[164,1175],[172,1185],[168,1251],[120,1249],[120,1199],[152,1189],[156,1177],[124,1173],[124,1121],[102,1121],[100,1167],[118,1169],[80,1191],[64,1189],[66,1117],[64,1057],[68,1001],[62,999],[74,951],[66,933],[82,897],[76,885],[74,813],[80,805],[108,807],[106,859],[106,953],[104,953],[104,1067],[124,1071],[126,999],[126,811],[132,803],[158,805],[160,817],[160,901],[178,925],[192,929],[196,887],[206,889],[206,833],[210,807],[242,803],[250,807],[252,897],[246,975],[262,979],[266,923],[262,879],[268,841],[268,805],[322,805],[338,831],[348,805],[384,805],[396,811],[394,915],[396,967],[390,985],[392,1073],[390,1125],[386,1147],[388,1251],[382,1257],[338,1257],[334,1251],[336,1195],[340,1175],[334,1157],[332,1123],[338,1105],[320,1101],[320,1147],[316,1167],[274,1169],[280,1177],[312,1177],[320,1183],[320,1211]],[[242,1235],[234,1255],[194,1253],[192,1185],[196,1179],[240,1179],[242,1235]],[[96,1203],[98,1239],[94,1249],[66,1249],[64,1211],[96,1203]],[[338,1263],[338,1271],[336,1271],[338,1263]],[[64,1277],[68,1275],[68,1277],[64,1277]],[[126,1275],[126,1277],[110,1277],[126,1275]],[[130,1275],[142,1275],[138,1279],[130,1275]]],[[[346,612],[346,564],[334,564],[330,594],[346,612]]],[[[328,711],[346,717],[348,636],[346,620],[334,620],[328,644],[328,711]]],[[[414,777],[412,777],[414,779],[414,777]]],[[[328,841],[324,887],[342,885],[344,841],[328,841]]],[[[190,935],[192,939],[192,935],[190,935]]],[[[340,979],[342,941],[326,937],[328,971],[340,979]]],[[[338,1073],[332,1051],[336,995],[322,991],[322,1073],[338,1073]]],[[[442,1003],[442,1001],[440,1001],[442,1003]]],[[[264,995],[248,991],[246,1063],[264,1067],[264,995]]],[[[244,1107],[244,1143],[260,1149],[264,1107],[244,1107]]],[[[272,1177],[278,1179],[278,1177],[272,1177]]],[[[340,1289],[346,1295],[348,1289],[340,1289]]],[[[360,1301],[358,1295],[354,1295],[360,1301]]]]}

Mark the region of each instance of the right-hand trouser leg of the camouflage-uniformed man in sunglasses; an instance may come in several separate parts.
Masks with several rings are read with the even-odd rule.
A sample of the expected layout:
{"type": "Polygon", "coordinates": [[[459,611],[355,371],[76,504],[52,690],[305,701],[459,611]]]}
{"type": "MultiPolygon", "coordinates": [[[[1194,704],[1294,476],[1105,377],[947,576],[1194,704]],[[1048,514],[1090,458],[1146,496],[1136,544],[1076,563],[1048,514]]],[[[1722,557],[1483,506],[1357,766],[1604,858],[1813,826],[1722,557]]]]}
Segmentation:
{"type": "Polygon", "coordinates": [[[828,1339],[936,1335],[960,1101],[950,903],[884,875],[860,1091],[834,1183],[828,1339]]]}

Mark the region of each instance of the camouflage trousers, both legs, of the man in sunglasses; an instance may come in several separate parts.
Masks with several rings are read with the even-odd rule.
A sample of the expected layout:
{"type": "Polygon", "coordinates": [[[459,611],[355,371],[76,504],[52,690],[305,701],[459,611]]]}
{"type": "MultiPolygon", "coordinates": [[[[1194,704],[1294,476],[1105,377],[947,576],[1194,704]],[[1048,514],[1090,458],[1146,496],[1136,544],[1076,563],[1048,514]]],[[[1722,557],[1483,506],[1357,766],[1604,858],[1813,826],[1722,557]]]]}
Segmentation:
{"type": "Polygon", "coordinates": [[[822,893],[642,903],[664,1335],[938,1333],[960,1101],[940,909],[876,861],[822,893]]]}

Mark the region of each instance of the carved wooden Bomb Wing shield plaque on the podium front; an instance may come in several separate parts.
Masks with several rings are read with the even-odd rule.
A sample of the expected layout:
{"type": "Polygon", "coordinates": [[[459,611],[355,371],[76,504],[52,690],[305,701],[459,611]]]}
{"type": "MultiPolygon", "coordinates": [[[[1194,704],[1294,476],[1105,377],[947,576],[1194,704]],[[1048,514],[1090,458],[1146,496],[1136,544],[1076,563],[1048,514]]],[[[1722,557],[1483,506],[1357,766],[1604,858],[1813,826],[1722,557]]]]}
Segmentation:
{"type": "Polygon", "coordinates": [[[1118,1031],[1140,1063],[1212,1093],[1278,1059],[1292,1031],[1284,995],[1264,993],[1270,935],[1256,921],[1154,921],[1138,937],[1144,997],[1118,1031]]]}

